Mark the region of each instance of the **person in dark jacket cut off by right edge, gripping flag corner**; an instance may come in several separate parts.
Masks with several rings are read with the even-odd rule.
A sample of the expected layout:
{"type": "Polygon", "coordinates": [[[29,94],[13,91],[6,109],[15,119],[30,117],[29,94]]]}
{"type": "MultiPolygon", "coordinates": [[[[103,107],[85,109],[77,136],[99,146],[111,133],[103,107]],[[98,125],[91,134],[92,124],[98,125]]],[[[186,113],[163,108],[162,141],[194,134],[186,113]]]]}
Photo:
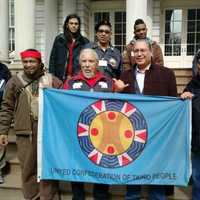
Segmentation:
{"type": "Polygon", "coordinates": [[[183,99],[192,99],[192,199],[200,199],[200,56],[196,58],[196,75],[187,84],[183,99]]]}

